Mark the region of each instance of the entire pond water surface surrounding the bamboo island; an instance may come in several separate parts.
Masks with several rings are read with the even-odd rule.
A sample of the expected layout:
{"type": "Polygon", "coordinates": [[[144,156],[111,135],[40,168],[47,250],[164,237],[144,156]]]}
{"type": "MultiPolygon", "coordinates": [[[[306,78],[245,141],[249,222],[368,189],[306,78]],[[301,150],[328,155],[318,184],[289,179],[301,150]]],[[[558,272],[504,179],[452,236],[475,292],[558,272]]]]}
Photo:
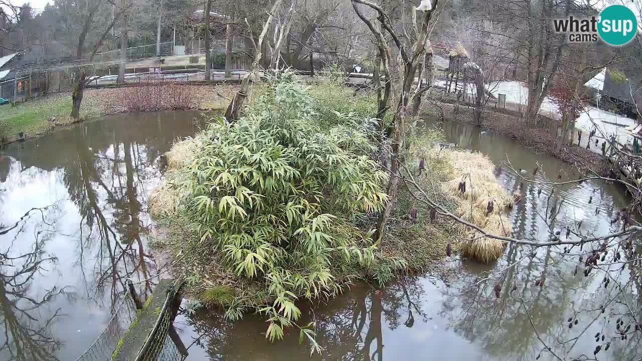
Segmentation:
{"type": "MultiPolygon", "coordinates": [[[[159,260],[146,246],[153,225],[147,199],[162,177],[160,155],[176,137],[197,131],[196,116],[110,117],[0,153],[0,360],[73,361],[107,323],[127,278],[146,280],[137,287],[150,292],[157,280],[148,278],[157,273],[159,260]]],[[[505,137],[459,123],[442,128],[449,143],[479,150],[496,164],[508,154],[514,168],[532,170],[539,163],[540,180],[557,179],[560,169],[572,177],[568,165],[505,137]]],[[[516,175],[506,166],[498,172],[499,182],[516,191],[516,175]]],[[[582,233],[607,233],[616,227],[610,222],[614,213],[628,201],[620,186],[596,182],[538,191],[526,185],[524,200],[508,214],[516,238],[548,240],[550,224],[564,236],[566,225],[580,220],[582,233]],[[557,216],[551,221],[553,208],[557,216]]],[[[561,258],[561,252],[549,247],[532,254],[532,247],[509,245],[492,265],[447,261],[456,270],[449,284],[424,276],[381,290],[354,285],[328,303],[303,306],[301,323],[317,322],[322,355],[310,356],[296,330],[270,344],[265,322],[250,315],[229,322],[220,312],[203,311],[179,315],[175,326],[188,361],[534,360],[544,344],[562,359],[584,360],[593,359],[602,344],[594,339],[598,332],[604,342],[617,336],[598,359],[639,358],[639,332],[621,341],[615,328],[618,318],[626,322],[623,327],[630,324],[620,313],[639,313],[642,287],[639,276],[629,282],[630,263],[620,281],[613,280],[617,286],[605,290],[603,273],[585,277],[580,267],[574,275],[577,257],[561,258]],[[501,270],[503,287],[496,297],[496,281],[480,279],[501,270]],[[544,278],[544,286],[535,285],[544,278]],[[596,305],[605,305],[605,313],[596,305]],[[569,328],[569,317],[578,324],[569,328]]],[[[539,359],[557,358],[544,351],[539,359]]]]}

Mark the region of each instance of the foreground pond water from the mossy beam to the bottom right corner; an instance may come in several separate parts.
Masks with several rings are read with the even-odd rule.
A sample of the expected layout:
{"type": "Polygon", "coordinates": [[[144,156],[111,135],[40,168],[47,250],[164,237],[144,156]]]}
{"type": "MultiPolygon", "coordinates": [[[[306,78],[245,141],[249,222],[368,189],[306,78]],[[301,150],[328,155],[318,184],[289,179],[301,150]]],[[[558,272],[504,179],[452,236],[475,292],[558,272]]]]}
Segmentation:
{"type": "MultiPolygon", "coordinates": [[[[639,279],[622,281],[627,292],[620,297],[616,287],[600,290],[601,278],[584,277],[581,272],[573,276],[575,263],[559,261],[555,252],[555,247],[533,254],[530,247],[509,246],[505,258],[491,267],[505,269],[499,297],[496,283],[484,279],[487,275],[480,273],[480,265],[464,263],[446,287],[424,290],[426,278],[405,279],[383,290],[354,286],[327,304],[310,305],[302,310],[299,324],[316,322],[322,355],[310,357],[309,346],[299,345],[297,330],[270,344],[261,333],[265,330],[261,317],[253,315],[232,323],[222,312],[203,311],[182,317],[178,327],[182,333],[192,332],[191,341],[184,336],[188,345],[192,343],[190,354],[195,355],[188,360],[205,357],[194,351],[198,348],[211,360],[383,361],[424,353],[444,360],[535,360],[540,354],[539,360],[557,360],[544,344],[562,359],[637,360],[639,333],[622,341],[614,323],[625,317],[625,303],[642,317],[639,279]],[[537,285],[542,279],[544,286],[537,285]],[[606,312],[587,309],[587,304],[596,303],[607,304],[606,312]],[[428,322],[432,317],[436,319],[428,322]],[[578,319],[572,328],[569,317],[578,319]],[[408,328],[412,331],[403,330],[408,328]],[[612,343],[608,351],[594,357],[598,332],[612,343]]],[[[639,267],[629,272],[639,274],[639,267]]]]}

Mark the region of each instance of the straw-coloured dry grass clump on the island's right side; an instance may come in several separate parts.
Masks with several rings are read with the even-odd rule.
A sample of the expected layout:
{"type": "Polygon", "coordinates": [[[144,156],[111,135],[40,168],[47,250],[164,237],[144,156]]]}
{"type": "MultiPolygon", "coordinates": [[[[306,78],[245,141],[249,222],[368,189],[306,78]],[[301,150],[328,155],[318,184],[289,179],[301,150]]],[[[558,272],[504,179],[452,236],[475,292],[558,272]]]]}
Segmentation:
{"type": "MultiPolygon", "coordinates": [[[[512,208],[513,199],[498,184],[493,173],[495,166],[488,157],[465,150],[440,150],[438,146],[429,152],[429,156],[451,164],[451,174],[442,189],[458,200],[458,217],[487,233],[510,236],[510,221],[502,214],[512,208]]],[[[465,238],[462,244],[465,256],[489,263],[503,254],[505,242],[483,236],[465,224],[458,224],[457,228],[465,238]]]]}

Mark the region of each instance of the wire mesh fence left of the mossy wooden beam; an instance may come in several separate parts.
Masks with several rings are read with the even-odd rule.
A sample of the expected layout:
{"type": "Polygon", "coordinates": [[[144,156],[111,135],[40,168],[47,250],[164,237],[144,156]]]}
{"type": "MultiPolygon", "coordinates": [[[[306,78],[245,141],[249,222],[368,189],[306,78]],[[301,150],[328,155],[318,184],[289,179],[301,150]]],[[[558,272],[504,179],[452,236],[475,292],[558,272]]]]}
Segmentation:
{"type": "Polygon", "coordinates": [[[132,297],[124,296],[120,304],[114,308],[112,318],[105,326],[105,330],[98,336],[89,349],[76,361],[107,361],[111,360],[112,353],[119,342],[136,319],[136,306],[132,297]]]}

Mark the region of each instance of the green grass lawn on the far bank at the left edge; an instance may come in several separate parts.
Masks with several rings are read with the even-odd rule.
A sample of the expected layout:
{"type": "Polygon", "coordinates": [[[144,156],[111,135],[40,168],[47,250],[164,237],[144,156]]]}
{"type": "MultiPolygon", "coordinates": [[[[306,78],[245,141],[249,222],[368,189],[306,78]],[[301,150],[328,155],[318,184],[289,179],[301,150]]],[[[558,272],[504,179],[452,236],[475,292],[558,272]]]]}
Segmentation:
{"type": "MultiPolygon", "coordinates": [[[[86,118],[99,114],[99,110],[85,107],[82,117],[86,118]]],[[[7,135],[24,132],[36,136],[48,132],[53,124],[49,117],[56,118],[57,125],[71,123],[71,96],[69,94],[53,94],[44,98],[27,101],[17,107],[3,105],[0,107],[0,119],[8,121],[7,135]]]]}

